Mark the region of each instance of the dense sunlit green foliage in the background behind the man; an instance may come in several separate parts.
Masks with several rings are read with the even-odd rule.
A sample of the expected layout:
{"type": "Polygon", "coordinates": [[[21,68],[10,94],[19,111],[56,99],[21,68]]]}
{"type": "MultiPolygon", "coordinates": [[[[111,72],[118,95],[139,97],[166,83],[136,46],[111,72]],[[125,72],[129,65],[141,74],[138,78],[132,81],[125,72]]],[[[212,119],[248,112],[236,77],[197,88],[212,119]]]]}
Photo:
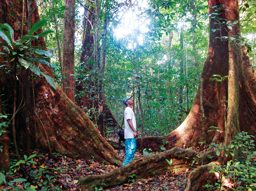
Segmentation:
{"type": "MultiPolygon", "coordinates": [[[[191,1],[192,2],[192,1],[191,1]]],[[[99,25],[102,30],[104,19],[108,18],[107,55],[103,75],[105,103],[121,124],[124,106],[123,97],[135,92],[135,115],[140,127],[141,113],[138,105],[138,87],[141,85],[141,106],[145,115],[145,134],[168,134],[186,117],[193,104],[198,89],[197,70],[202,70],[208,51],[209,16],[207,1],[196,0],[194,9],[188,1],[100,1],[99,25]],[[195,24],[194,24],[195,23],[195,24]],[[195,27],[195,65],[191,29],[195,27]],[[138,77],[134,77],[138,76],[138,77]],[[187,84],[187,85],[186,85],[187,84]],[[133,90],[134,89],[134,90],[133,90]]],[[[54,1],[60,41],[62,41],[63,1],[54,1]]],[[[84,70],[80,64],[81,39],[83,36],[84,7],[91,8],[87,1],[77,2],[76,7],[76,71],[84,70]]],[[[44,30],[54,30],[52,1],[41,0],[41,18],[47,19],[44,30]]],[[[248,46],[255,65],[255,8],[254,1],[240,2],[243,41],[248,46]]],[[[93,7],[94,8],[94,7],[93,7]]],[[[92,10],[93,10],[92,8],[92,10]]],[[[91,32],[92,34],[95,31],[91,32]]],[[[103,39],[103,37],[101,37],[103,39]]],[[[56,48],[56,35],[46,38],[47,47],[56,48]]],[[[52,62],[59,65],[57,51],[52,62]]],[[[97,91],[99,72],[97,65],[92,70],[83,71],[83,81],[94,82],[90,94],[97,91]]],[[[61,70],[54,69],[57,82],[61,81],[61,70]]],[[[77,75],[78,77],[78,75],[77,75]]],[[[80,78],[81,80],[81,78],[80,78]]],[[[86,92],[76,92],[76,99],[86,92]]],[[[92,98],[97,99],[97,94],[92,98]]],[[[97,115],[97,109],[90,109],[97,115]]],[[[94,121],[96,123],[96,121],[94,121]]],[[[112,131],[110,124],[107,124],[112,131]]]]}

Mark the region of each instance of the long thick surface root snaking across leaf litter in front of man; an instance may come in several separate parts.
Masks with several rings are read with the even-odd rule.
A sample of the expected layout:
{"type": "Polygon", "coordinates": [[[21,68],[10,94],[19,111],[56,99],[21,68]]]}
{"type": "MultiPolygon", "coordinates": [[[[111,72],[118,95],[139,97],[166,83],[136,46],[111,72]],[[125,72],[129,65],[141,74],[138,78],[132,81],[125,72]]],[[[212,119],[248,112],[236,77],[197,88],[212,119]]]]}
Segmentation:
{"type": "Polygon", "coordinates": [[[82,188],[90,190],[94,190],[95,187],[99,188],[100,186],[102,188],[114,187],[132,179],[138,180],[166,172],[175,173],[184,171],[191,167],[193,160],[195,160],[195,166],[208,164],[210,159],[206,156],[214,156],[215,152],[209,151],[202,157],[197,157],[200,155],[202,154],[193,150],[184,150],[175,147],[160,154],[133,160],[127,165],[104,175],[92,175],[81,178],[79,183],[82,188]],[[169,166],[166,159],[169,161],[172,159],[171,166],[169,166]]]}

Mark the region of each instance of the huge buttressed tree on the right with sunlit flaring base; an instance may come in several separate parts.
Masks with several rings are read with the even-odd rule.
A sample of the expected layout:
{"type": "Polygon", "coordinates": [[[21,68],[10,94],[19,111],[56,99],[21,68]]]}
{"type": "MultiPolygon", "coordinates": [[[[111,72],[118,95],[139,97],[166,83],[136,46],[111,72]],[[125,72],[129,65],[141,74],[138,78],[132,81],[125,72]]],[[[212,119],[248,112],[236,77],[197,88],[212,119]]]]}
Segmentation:
{"type": "Polygon", "coordinates": [[[157,150],[162,139],[169,140],[168,148],[200,146],[202,141],[207,144],[225,141],[228,145],[240,131],[255,134],[256,76],[240,34],[238,0],[209,0],[211,13],[215,17],[209,18],[209,50],[201,76],[205,117],[198,89],[193,107],[181,126],[163,137],[145,138],[146,147],[157,150]],[[222,134],[209,132],[211,126],[218,127],[222,134]]]}

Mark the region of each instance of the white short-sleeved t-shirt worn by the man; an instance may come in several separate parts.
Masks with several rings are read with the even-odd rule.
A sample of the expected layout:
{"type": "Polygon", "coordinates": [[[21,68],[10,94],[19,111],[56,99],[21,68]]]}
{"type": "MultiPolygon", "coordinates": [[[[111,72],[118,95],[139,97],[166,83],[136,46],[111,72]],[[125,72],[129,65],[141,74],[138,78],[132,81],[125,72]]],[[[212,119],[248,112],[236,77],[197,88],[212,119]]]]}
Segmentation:
{"type": "Polygon", "coordinates": [[[126,107],[124,110],[124,138],[125,139],[134,138],[134,132],[128,124],[128,121],[127,121],[128,119],[132,120],[133,127],[136,130],[135,115],[132,108],[130,107],[126,107]]]}

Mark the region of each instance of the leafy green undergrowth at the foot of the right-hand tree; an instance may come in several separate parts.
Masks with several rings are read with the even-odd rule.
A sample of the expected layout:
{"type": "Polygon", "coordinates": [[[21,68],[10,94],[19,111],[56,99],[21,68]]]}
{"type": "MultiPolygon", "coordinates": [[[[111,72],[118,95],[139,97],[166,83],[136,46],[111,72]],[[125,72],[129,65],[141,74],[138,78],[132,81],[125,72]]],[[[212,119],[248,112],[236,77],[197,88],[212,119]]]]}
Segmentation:
{"type": "Polygon", "coordinates": [[[219,175],[214,185],[205,185],[207,190],[256,191],[256,150],[254,139],[247,132],[241,132],[229,146],[211,143],[209,147],[216,148],[218,156],[224,153],[231,159],[223,166],[213,164],[214,172],[219,175]]]}

